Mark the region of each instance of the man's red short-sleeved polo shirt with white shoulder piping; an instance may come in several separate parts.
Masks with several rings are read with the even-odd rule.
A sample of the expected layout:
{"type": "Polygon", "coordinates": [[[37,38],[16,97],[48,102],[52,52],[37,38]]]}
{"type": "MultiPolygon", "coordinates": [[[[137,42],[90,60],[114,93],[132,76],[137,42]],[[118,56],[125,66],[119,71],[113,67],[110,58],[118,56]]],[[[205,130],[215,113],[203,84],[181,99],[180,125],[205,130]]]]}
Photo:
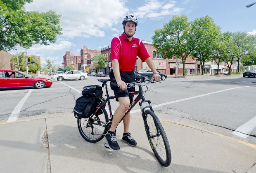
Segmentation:
{"type": "MultiPolygon", "coordinates": [[[[123,33],[120,37],[114,37],[111,41],[111,60],[117,59],[121,71],[133,71],[136,57],[142,62],[149,58],[149,53],[140,39],[133,37],[131,41],[126,39],[123,33]]],[[[111,65],[112,69],[112,65],[111,65]]]]}

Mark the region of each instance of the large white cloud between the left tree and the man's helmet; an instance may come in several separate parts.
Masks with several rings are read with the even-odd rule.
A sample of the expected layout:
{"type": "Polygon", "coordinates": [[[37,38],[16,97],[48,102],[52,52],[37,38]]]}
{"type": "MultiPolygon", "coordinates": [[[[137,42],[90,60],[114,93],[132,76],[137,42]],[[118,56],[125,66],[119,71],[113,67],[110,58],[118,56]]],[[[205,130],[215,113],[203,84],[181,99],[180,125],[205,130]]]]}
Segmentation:
{"type": "Polygon", "coordinates": [[[103,37],[104,29],[117,24],[128,9],[122,0],[33,0],[25,5],[28,11],[61,14],[63,37],[103,37]]]}

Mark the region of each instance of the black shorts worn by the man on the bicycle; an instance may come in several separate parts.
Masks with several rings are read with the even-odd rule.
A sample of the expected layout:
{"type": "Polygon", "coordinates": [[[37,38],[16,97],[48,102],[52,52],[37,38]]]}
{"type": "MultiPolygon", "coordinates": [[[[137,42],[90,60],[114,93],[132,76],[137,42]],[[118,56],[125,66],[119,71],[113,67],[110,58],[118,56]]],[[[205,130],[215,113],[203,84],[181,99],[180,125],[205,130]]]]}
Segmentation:
{"type": "MultiPolygon", "coordinates": [[[[120,71],[120,75],[121,75],[122,81],[124,81],[125,83],[131,83],[131,82],[135,81],[135,73],[133,71],[132,72],[120,71]]],[[[135,87],[121,90],[120,87],[118,87],[118,85],[116,83],[116,78],[114,76],[113,71],[109,72],[109,78],[111,79],[110,87],[112,90],[114,90],[114,94],[116,96],[116,101],[118,101],[117,98],[119,98],[119,97],[130,97],[130,103],[132,103],[134,95],[129,96],[128,92],[134,92],[135,87]]]]}

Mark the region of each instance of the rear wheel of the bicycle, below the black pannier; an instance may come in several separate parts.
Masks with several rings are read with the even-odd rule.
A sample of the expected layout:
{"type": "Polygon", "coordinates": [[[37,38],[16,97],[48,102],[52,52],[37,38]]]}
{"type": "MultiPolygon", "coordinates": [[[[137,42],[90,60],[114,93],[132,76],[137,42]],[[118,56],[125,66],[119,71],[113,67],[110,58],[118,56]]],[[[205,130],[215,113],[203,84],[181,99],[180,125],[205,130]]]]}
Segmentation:
{"type": "Polygon", "coordinates": [[[81,136],[90,143],[96,143],[104,138],[109,122],[106,109],[102,106],[96,115],[89,118],[77,119],[78,130],[81,136]]]}

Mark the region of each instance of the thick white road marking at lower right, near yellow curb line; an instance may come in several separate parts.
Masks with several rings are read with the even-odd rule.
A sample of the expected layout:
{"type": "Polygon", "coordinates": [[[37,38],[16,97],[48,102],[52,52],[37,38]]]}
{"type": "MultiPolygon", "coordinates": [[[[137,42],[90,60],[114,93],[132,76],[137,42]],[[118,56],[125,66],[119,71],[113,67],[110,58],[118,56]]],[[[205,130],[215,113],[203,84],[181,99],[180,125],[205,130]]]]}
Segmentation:
{"type": "Polygon", "coordinates": [[[233,134],[240,136],[242,138],[247,138],[248,135],[256,127],[256,116],[251,120],[244,123],[242,126],[238,127],[233,134]]]}

